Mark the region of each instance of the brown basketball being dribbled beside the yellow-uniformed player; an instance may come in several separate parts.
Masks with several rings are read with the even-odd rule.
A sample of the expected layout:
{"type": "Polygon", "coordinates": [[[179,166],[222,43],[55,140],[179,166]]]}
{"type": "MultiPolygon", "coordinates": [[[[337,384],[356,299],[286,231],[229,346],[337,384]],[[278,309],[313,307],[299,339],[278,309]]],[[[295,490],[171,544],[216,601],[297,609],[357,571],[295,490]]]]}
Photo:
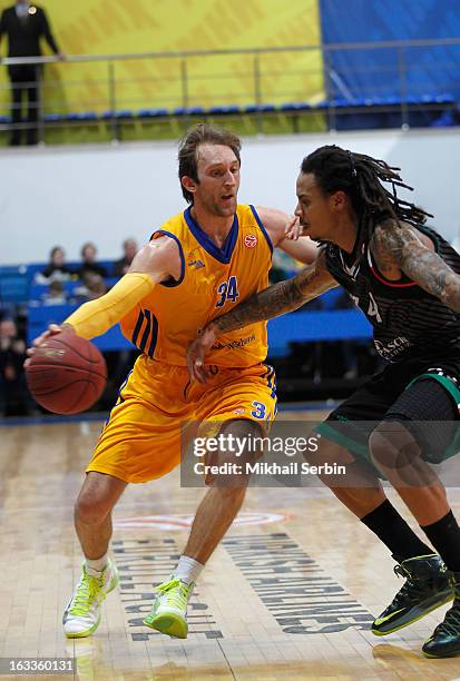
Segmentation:
{"type": "Polygon", "coordinates": [[[63,330],[36,349],[26,378],[30,393],[42,407],[55,414],[78,414],[99,398],[107,367],[92,343],[63,330]]]}

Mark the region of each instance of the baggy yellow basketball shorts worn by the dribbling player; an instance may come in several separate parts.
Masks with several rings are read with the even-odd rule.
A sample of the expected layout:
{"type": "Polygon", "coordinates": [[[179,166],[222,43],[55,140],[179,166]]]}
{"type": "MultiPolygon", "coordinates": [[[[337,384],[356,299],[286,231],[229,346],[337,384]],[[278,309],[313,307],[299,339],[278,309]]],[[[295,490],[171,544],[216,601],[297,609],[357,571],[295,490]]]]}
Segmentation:
{"type": "Polygon", "coordinates": [[[87,473],[128,483],[162,477],[180,463],[197,423],[245,418],[265,431],[276,414],[274,369],[257,364],[211,371],[205,385],[190,383],[186,367],[141,355],[120,387],[87,473]]]}

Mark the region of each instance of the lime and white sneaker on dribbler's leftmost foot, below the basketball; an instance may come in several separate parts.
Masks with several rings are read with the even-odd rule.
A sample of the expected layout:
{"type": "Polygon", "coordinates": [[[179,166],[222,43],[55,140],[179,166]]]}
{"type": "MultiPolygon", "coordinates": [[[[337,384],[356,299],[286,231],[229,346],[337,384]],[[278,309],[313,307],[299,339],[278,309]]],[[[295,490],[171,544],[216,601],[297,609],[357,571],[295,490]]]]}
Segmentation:
{"type": "Polygon", "coordinates": [[[100,624],[101,606],[106,595],[119,582],[118,570],[109,559],[100,576],[84,563],[79,583],[67,605],[62,624],[68,639],[84,639],[100,624]]]}

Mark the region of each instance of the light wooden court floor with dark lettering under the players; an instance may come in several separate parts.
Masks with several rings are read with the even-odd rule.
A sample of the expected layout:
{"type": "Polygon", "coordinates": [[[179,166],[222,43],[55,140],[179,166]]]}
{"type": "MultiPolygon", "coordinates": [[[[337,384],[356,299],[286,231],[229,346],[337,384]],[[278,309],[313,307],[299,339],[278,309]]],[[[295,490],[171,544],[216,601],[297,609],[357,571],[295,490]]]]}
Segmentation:
{"type": "MultiPolygon", "coordinates": [[[[70,657],[75,678],[96,681],[460,680],[460,658],[420,652],[446,609],[400,634],[370,633],[402,581],[386,549],[320,487],[249,490],[199,580],[188,639],[143,626],[151,583],[173,570],[203,495],[180,488],[177,472],[123,496],[112,543],[120,588],[96,634],[67,641],[61,614],[81,561],[72,504],[100,426],[0,428],[0,658],[70,657]]],[[[449,493],[460,515],[460,492],[449,493]]]]}

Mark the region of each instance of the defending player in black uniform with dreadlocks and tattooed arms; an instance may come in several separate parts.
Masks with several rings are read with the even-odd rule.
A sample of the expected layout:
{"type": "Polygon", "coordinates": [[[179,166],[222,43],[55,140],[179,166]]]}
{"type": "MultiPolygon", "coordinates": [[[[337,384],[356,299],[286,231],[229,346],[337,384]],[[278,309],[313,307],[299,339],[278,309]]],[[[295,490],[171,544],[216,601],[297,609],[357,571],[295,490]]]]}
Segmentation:
{"type": "Polygon", "coordinates": [[[427,462],[456,452],[460,256],[424,226],[428,214],[398,196],[397,187],[409,188],[398,170],[335,146],[307,156],[292,236],[322,244],[316,263],[209,324],[190,346],[188,365],[204,382],[204,357],[219,334],[296,309],[337,284],[346,289],[389,364],[320,426],[314,463],[346,464],[345,483],[323,482],[390,549],[405,578],[372,631],[397,631],[453,599],[423,645],[427,657],[443,658],[460,655],[460,529],[427,462]],[[379,477],[397,488],[438,553],[392,506],[379,477]]]}

